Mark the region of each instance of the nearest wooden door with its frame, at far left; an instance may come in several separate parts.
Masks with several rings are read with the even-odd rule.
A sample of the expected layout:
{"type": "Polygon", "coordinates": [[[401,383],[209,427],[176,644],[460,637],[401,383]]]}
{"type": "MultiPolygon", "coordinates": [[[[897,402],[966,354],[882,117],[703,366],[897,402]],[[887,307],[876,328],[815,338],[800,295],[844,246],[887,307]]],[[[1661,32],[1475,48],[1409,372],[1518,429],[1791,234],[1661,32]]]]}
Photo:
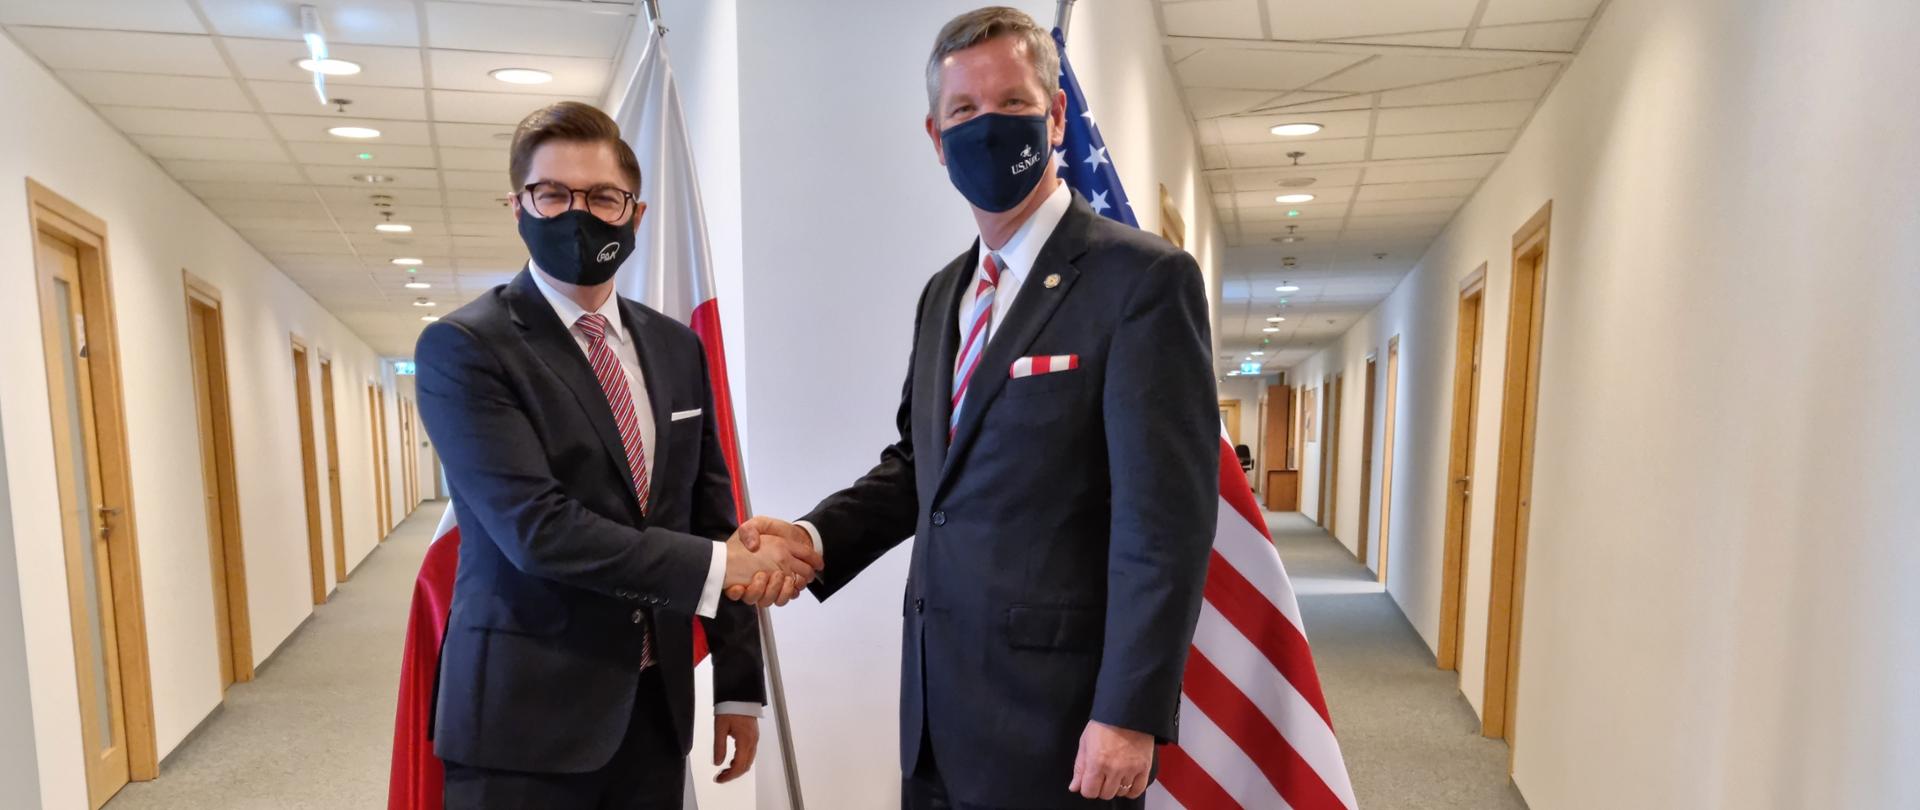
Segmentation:
{"type": "Polygon", "coordinates": [[[86,798],[152,779],[154,708],[106,223],[27,182],[86,798]]]}

